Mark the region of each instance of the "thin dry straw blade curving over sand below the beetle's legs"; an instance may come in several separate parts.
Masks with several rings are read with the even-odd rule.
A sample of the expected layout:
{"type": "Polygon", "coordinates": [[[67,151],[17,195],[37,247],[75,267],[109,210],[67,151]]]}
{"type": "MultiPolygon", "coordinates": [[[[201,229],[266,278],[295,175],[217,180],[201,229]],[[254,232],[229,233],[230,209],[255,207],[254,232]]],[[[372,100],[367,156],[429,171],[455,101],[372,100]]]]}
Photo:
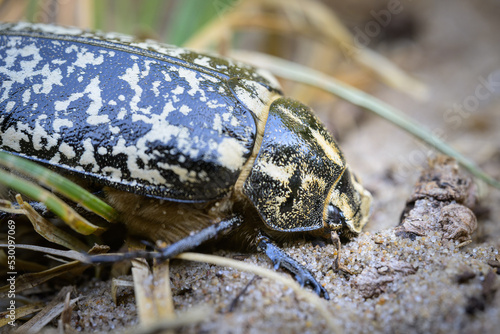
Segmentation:
{"type": "Polygon", "coordinates": [[[175,258],[188,261],[205,262],[223,267],[231,267],[241,271],[251,272],[255,275],[266,277],[274,281],[278,281],[286,287],[292,289],[297,294],[297,297],[302,298],[313,305],[318,313],[321,314],[328,326],[328,329],[332,333],[340,333],[340,329],[338,328],[338,325],[334,320],[335,315],[327,310],[328,307],[326,305],[326,302],[322,300],[318,295],[301,288],[300,285],[291,278],[285,277],[275,271],[266,268],[215,255],[182,253],[177,255],[175,258]]]}

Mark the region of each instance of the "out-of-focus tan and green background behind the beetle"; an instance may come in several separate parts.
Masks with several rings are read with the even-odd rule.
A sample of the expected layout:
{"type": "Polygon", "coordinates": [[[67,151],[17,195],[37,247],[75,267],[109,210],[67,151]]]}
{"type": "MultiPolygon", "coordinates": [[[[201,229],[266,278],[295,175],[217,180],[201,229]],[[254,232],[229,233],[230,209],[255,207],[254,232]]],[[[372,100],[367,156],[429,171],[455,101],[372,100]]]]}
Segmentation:
{"type": "MultiPolygon", "coordinates": [[[[497,179],[499,14],[496,0],[0,0],[3,22],[115,31],[229,56],[252,50],[318,69],[401,109],[497,179]]],[[[313,107],[374,194],[368,229],[395,226],[434,151],[331,94],[281,82],[313,107]]],[[[485,212],[498,210],[499,198],[485,196],[485,212]]],[[[479,237],[500,236],[496,225],[482,224],[479,237]]]]}

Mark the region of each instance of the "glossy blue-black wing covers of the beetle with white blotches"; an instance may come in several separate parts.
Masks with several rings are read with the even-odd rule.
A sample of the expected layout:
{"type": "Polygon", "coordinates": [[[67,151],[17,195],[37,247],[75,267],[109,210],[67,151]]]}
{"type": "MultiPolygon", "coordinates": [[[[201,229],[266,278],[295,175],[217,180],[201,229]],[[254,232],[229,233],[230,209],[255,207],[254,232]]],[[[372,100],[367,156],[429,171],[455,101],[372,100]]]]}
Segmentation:
{"type": "Polygon", "coordinates": [[[228,81],[277,90],[261,73],[125,35],[0,25],[0,148],[140,194],[218,198],[252,152],[249,108],[262,105],[228,81]]]}

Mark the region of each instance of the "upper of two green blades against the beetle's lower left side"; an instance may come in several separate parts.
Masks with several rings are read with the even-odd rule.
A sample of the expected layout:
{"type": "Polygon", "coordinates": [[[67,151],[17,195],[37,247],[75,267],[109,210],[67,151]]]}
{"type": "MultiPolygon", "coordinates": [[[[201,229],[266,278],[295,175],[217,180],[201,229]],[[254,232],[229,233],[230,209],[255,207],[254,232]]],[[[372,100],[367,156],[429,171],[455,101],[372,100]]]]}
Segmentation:
{"type": "Polygon", "coordinates": [[[118,217],[116,210],[101,199],[67,178],[37,163],[6,152],[0,152],[0,165],[36,179],[41,184],[80,204],[87,210],[98,214],[107,221],[114,221],[118,217]]]}

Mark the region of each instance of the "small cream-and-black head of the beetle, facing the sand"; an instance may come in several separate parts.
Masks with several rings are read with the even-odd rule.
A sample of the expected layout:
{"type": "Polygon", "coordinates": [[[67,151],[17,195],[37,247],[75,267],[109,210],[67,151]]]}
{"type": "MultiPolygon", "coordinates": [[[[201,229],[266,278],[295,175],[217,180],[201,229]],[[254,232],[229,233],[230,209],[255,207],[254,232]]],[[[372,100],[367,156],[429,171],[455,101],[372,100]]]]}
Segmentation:
{"type": "Polygon", "coordinates": [[[325,222],[331,230],[359,234],[368,221],[371,194],[347,167],[333,186],[325,208],[325,222]]]}

